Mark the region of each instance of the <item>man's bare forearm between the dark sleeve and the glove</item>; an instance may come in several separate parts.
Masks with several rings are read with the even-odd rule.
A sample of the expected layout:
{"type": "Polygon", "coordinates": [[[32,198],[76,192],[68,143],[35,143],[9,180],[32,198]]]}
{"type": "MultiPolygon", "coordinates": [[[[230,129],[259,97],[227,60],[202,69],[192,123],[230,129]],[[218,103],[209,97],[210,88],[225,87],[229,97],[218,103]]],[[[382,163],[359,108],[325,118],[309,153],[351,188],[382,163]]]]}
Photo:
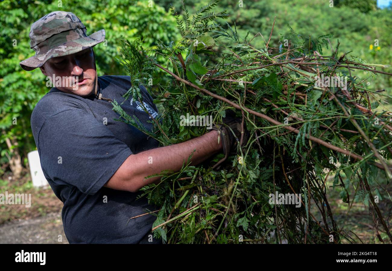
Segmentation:
{"type": "MultiPolygon", "coordinates": [[[[157,174],[163,170],[176,172],[181,169],[183,162],[187,162],[189,155],[196,150],[191,158],[191,164],[203,162],[222,149],[222,142],[218,144],[218,132],[211,131],[197,138],[165,147],[159,147],[130,155],[116,178],[126,179],[123,190],[137,191],[145,185],[157,183],[162,177],[145,179],[144,177],[157,174]]],[[[117,185],[118,186],[118,185],[117,185]]],[[[108,186],[111,187],[111,186],[108,186]]],[[[112,186],[112,188],[114,188],[112,186]]],[[[115,188],[120,189],[120,188],[115,188]]]]}

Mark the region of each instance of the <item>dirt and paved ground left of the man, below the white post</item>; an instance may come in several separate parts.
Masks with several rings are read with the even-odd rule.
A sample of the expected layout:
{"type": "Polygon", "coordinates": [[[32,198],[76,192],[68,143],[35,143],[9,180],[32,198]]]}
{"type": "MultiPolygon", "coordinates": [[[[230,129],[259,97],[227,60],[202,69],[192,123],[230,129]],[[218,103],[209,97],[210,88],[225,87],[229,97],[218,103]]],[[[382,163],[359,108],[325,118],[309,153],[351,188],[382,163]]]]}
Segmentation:
{"type": "Polygon", "coordinates": [[[31,207],[0,206],[1,244],[68,244],[61,210],[63,203],[50,187],[34,188],[28,172],[15,180],[11,173],[0,178],[0,193],[31,194],[31,207]]]}

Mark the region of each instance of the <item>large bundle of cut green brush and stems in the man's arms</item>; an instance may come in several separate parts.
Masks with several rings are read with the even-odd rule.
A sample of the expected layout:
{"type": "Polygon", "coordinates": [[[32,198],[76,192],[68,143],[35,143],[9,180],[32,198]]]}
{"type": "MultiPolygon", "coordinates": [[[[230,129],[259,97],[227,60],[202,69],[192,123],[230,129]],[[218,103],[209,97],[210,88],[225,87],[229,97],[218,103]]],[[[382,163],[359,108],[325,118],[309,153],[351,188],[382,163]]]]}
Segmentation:
{"type": "MultiPolygon", "coordinates": [[[[119,60],[134,86],[152,85],[160,111],[151,132],[114,102],[123,121],[162,146],[209,131],[180,125],[187,113],[211,115],[215,122],[233,109],[250,131],[245,147],[238,144],[237,154],[216,168],[222,153],[198,166],[188,160],[179,172],[154,175],[162,176],[162,182],[143,188],[151,203],[162,206],[155,213],[154,235],[168,243],[350,241],[334,221],[328,179],[341,186],[341,198],[349,206],[354,201],[368,204],[377,233],[392,240],[374,200],[385,198],[380,180],[389,183],[392,176],[387,164],[392,158],[391,116],[374,110],[383,92],[367,90],[352,75],[358,69],[369,75],[387,73],[346,54],[338,56],[338,47],[331,56],[321,56],[321,45],[328,45],[330,36],[308,44],[291,28],[281,40],[289,43],[278,54],[272,54],[270,40],[265,48],[254,48],[235,27],[214,21],[227,16],[213,12],[215,5],[192,17],[183,8],[182,16],[176,16],[179,43],[147,51],[122,38],[119,60]]],[[[128,95],[140,97],[138,92],[133,87],[128,95]]]]}

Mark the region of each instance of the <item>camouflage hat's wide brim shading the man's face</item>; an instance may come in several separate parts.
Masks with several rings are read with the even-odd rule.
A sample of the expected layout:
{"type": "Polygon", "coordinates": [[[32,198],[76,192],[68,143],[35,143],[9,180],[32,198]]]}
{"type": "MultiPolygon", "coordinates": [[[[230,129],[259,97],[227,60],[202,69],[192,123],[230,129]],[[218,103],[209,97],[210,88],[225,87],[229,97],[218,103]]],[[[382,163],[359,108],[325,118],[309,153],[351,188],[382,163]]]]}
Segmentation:
{"type": "Polygon", "coordinates": [[[71,41],[67,41],[54,47],[47,52],[42,54],[37,54],[35,56],[29,57],[24,61],[20,62],[19,65],[22,69],[31,71],[35,68],[39,68],[45,64],[48,59],[59,56],[67,56],[70,54],[75,54],[88,47],[94,47],[98,43],[101,43],[105,39],[105,30],[101,29],[88,37],[78,38],[71,41]]]}

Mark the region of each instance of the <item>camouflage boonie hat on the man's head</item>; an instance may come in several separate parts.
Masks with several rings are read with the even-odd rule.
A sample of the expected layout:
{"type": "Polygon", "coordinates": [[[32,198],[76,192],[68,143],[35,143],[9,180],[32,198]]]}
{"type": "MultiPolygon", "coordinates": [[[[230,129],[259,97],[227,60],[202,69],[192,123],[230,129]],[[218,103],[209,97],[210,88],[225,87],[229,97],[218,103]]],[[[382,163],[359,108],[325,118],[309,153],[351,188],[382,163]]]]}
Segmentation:
{"type": "Polygon", "coordinates": [[[105,39],[105,30],[87,36],[86,27],[75,14],[53,11],[31,25],[29,37],[35,56],[19,63],[27,71],[44,65],[52,57],[67,56],[94,47],[105,39]]]}

